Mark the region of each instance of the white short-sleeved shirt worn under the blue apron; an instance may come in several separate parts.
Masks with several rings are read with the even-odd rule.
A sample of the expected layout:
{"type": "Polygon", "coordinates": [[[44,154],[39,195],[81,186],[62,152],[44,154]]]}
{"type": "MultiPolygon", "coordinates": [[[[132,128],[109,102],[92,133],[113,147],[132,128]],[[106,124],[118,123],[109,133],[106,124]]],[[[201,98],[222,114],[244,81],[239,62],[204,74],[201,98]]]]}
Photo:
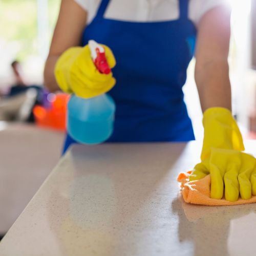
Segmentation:
{"type": "MultiPolygon", "coordinates": [[[[90,24],[101,0],[74,1],[87,10],[90,24]]],[[[207,11],[220,5],[227,5],[227,0],[189,0],[189,19],[197,26],[207,11]]],[[[104,17],[130,22],[174,20],[179,17],[179,0],[110,0],[104,17]]]]}

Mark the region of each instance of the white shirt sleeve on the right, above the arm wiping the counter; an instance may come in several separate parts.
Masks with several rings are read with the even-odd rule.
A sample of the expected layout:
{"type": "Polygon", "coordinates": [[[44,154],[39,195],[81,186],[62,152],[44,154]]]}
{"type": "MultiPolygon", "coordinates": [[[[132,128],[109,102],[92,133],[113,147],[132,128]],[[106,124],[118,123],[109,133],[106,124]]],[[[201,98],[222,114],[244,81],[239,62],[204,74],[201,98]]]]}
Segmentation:
{"type": "Polygon", "coordinates": [[[207,11],[220,5],[229,5],[229,3],[227,0],[190,0],[189,18],[197,26],[207,11]]]}

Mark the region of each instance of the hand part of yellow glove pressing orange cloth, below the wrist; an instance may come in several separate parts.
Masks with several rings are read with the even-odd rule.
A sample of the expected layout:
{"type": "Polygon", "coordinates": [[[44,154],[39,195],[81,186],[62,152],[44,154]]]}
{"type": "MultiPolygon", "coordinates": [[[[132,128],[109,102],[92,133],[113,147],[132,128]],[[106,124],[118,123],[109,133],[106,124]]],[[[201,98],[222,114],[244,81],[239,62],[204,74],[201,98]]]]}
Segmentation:
{"type": "Polygon", "coordinates": [[[198,180],[210,174],[210,197],[237,201],[256,195],[256,160],[253,156],[237,151],[211,148],[209,158],[197,164],[190,180],[198,180]]]}

